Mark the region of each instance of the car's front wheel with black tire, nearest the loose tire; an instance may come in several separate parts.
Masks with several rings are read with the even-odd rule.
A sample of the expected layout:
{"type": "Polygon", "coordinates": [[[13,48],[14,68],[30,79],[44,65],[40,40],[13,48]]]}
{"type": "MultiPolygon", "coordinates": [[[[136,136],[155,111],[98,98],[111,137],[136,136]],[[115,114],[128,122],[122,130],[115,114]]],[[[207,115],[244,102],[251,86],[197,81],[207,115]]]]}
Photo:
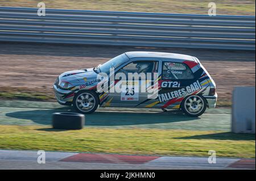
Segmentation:
{"type": "Polygon", "coordinates": [[[84,114],[89,114],[89,113],[93,113],[94,111],[97,110],[98,108],[98,104],[100,104],[100,99],[98,98],[98,95],[96,94],[96,92],[94,91],[90,91],[90,90],[82,90],[76,93],[75,97],[73,98],[73,107],[75,108],[75,110],[79,113],[84,113],[84,114]],[[89,98],[87,100],[85,99],[81,99],[81,96],[86,96],[89,95],[89,98]],[[89,108],[90,105],[90,101],[89,99],[93,99],[92,102],[92,107],[89,108]],[[79,101],[82,101],[81,103],[79,101]],[[88,109],[85,109],[86,107],[85,104],[89,104],[88,109]],[[81,107],[82,105],[82,107],[81,107]]]}

